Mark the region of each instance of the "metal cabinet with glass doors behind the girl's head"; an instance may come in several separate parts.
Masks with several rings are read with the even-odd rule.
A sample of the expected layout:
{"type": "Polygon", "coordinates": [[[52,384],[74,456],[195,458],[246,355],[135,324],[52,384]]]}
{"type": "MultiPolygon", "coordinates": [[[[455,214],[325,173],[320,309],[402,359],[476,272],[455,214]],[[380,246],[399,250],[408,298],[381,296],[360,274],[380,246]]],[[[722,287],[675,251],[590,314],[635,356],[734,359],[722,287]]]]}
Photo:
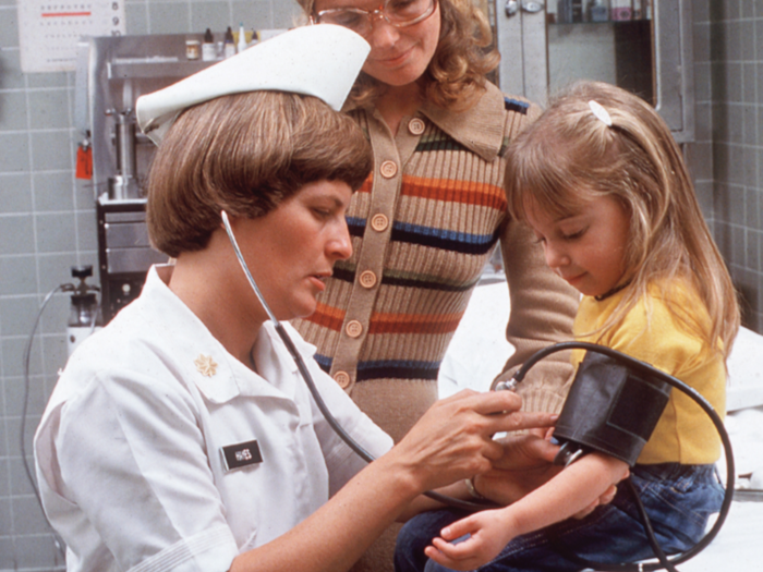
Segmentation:
{"type": "Polygon", "coordinates": [[[649,100],[679,143],[694,137],[689,0],[495,0],[488,13],[507,93],[545,105],[574,80],[649,100]]]}

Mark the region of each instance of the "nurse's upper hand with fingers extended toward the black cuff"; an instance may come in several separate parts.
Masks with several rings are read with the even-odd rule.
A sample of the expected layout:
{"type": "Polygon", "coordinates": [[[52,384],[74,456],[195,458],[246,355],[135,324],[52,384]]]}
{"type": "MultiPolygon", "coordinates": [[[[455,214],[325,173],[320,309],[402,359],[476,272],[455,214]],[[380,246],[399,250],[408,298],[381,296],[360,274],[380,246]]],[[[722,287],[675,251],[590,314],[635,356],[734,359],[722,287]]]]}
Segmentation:
{"type": "Polygon", "coordinates": [[[463,390],[436,402],[388,454],[410,465],[422,491],[485,473],[505,457],[495,434],[549,427],[556,419],[521,406],[511,391],[463,390]]]}

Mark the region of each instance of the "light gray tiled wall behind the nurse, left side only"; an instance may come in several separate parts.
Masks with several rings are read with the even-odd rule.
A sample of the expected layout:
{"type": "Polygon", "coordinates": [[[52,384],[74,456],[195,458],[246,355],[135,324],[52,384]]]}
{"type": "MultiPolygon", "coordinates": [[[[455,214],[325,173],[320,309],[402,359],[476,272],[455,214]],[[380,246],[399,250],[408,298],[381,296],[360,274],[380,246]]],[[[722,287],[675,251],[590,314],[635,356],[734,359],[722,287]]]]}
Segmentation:
{"type": "MultiPolygon", "coordinates": [[[[22,74],[16,0],[0,0],[0,571],[52,570],[63,560],[28,485],[20,449],[23,353],[45,295],[72,280],[73,265],[97,275],[93,192],[74,179],[74,74],[22,74]]],[[[25,1],[25,0],[20,0],[25,1]]],[[[293,0],[126,0],[128,34],[293,25],[293,0]]],[[[97,279],[97,277],[96,277],[97,279]]],[[[69,296],[48,304],[31,354],[32,436],[66,357],[69,296]]],[[[31,458],[29,458],[31,459],[31,458]]]]}

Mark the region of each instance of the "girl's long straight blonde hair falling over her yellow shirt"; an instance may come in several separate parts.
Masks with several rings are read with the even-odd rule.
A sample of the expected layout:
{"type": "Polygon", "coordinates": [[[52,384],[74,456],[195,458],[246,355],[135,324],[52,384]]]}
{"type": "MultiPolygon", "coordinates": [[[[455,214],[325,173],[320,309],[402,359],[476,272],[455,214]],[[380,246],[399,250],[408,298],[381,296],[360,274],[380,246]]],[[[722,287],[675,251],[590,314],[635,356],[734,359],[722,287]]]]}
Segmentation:
{"type": "Polygon", "coordinates": [[[510,146],[506,187],[509,210],[519,219],[529,205],[562,217],[588,198],[617,198],[630,215],[629,283],[598,331],[617,327],[656,285],[680,324],[728,356],[740,322],[737,295],[681,150],[654,108],[609,84],[572,85],[510,146]],[[611,126],[593,113],[591,100],[608,112],[611,126]],[[695,289],[707,320],[671,299],[667,288],[677,278],[695,289]]]}

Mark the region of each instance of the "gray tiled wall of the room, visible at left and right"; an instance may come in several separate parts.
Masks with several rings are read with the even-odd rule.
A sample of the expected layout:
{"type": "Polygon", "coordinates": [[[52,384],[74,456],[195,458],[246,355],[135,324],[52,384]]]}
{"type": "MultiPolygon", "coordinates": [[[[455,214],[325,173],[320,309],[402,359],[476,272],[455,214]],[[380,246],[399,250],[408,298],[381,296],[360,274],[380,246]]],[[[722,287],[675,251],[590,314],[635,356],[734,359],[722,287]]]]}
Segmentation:
{"type": "MultiPolygon", "coordinates": [[[[45,295],[70,267],[97,268],[93,192],[73,165],[74,74],[21,73],[15,0],[0,0],[0,571],[60,567],[20,452],[23,351],[45,295]]],[[[763,4],[694,0],[698,194],[763,330],[763,4]],[[760,92],[760,95],[759,95],[760,92]]],[[[129,34],[288,27],[293,0],[128,0],[129,34]]],[[[69,296],[45,311],[31,360],[26,442],[66,355],[69,296]]],[[[27,452],[28,452],[27,446],[27,452]]]]}

